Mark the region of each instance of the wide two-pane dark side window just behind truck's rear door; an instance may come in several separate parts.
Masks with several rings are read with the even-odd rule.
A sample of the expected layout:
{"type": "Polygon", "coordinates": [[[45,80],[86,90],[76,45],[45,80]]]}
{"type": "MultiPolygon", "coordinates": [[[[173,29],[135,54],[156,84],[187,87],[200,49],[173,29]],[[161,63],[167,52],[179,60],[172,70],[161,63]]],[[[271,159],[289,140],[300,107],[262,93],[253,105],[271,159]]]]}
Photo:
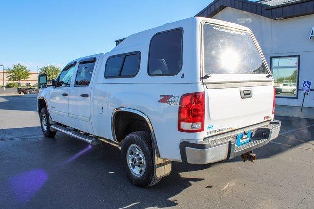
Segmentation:
{"type": "Polygon", "coordinates": [[[140,65],[140,52],[114,55],[108,58],[105,78],[135,77],[140,65]]]}

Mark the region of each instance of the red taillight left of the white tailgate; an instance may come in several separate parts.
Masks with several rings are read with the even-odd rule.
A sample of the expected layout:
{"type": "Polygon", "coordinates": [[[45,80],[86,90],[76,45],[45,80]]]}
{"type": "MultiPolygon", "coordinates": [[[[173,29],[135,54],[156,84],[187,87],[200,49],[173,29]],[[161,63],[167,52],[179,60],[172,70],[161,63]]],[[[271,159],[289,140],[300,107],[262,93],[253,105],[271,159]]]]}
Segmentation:
{"type": "Polygon", "coordinates": [[[181,96],[178,113],[178,131],[204,131],[204,92],[187,93],[181,96]]]}

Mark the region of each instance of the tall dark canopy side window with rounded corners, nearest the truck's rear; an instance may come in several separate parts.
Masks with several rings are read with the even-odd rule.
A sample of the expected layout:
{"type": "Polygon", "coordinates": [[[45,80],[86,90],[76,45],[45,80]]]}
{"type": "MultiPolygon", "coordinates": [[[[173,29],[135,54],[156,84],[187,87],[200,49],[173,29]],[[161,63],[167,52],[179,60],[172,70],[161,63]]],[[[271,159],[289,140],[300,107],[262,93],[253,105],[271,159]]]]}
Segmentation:
{"type": "Polygon", "coordinates": [[[182,67],[183,29],[157,33],[149,47],[148,74],[176,75],[182,67]]]}

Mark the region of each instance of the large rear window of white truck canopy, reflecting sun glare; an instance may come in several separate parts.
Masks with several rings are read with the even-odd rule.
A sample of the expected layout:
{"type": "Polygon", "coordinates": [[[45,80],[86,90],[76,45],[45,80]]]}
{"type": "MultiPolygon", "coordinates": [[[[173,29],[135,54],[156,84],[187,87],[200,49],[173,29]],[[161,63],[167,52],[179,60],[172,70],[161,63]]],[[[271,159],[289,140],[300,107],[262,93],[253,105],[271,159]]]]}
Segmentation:
{"type": "Polygon", "coordinates": [[[205,74],[267,74],[267,68],[247,32],[204,24],[205,74]]]}

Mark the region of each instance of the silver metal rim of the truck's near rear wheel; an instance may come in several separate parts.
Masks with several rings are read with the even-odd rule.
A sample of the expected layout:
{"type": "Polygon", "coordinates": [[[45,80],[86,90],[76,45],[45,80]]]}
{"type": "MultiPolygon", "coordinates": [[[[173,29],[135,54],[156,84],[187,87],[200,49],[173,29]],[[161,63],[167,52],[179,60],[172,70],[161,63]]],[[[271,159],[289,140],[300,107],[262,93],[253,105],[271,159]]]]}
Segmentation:
{"type": "Polygon", "coordinates": [[[145,156],[136,144],[131,144],[128,148],[127,163],[134,176],[140,177],[144,174],[146,168],[145,156]]]}

